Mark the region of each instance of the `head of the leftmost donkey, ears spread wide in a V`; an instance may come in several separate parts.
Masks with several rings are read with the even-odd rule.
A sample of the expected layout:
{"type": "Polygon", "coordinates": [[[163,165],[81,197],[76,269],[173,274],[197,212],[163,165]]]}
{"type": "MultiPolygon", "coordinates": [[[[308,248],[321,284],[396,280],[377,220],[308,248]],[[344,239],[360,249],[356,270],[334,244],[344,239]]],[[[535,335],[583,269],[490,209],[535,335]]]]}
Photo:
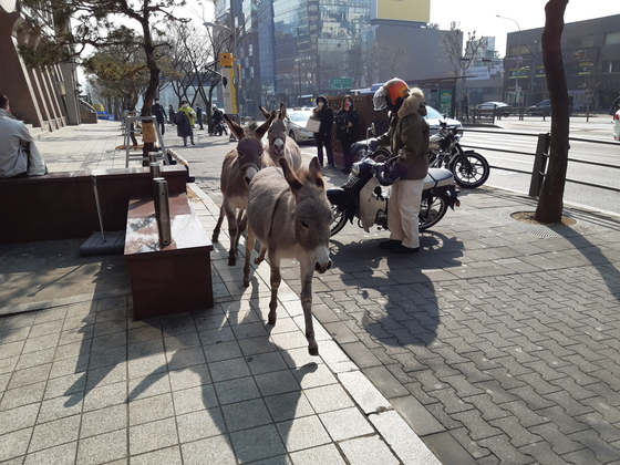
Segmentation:
{"type": "Polygon", "coordinates": [[[244,176],[244,180],[247,185],[250,184],[252,177],[262,168],[269,164],[268,157],[264,159],[262,157],[262,144],[260,140],[271,125],[276,115],[270,116],[260,126],[250,125],[247,127],[241,127],[228,115],[224,115],[224,120],[230,132],[239,140],[237,143],[237,161],[239,163],[239,169],[244,176]]]}

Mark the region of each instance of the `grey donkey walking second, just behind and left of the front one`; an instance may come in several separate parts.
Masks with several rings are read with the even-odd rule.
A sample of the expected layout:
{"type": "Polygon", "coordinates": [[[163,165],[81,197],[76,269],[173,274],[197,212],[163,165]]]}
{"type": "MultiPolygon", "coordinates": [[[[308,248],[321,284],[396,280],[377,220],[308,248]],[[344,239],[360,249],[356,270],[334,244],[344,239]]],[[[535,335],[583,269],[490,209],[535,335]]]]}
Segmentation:
{"type": "Polygon", "coordinates": [[[226,124],[239,142],[235,149],[226,154],[221,165],[219,182],[224,199],[211,241],[214,244],[218,241],[221,223],[226,216],[230,235],[230,250],[228,251],[228,266],[230,267],[237,264],[239,238],[246,230],[247,217],[244,213],[248,207],[250,180],[262,167],[273,166],[271,158],[262,156],[265,148],[260,142],[273,118],[275,115],[270,116],[259,127],[250,125],[244,128],[231,121],[228,115],[224,115],[226,124]]]}

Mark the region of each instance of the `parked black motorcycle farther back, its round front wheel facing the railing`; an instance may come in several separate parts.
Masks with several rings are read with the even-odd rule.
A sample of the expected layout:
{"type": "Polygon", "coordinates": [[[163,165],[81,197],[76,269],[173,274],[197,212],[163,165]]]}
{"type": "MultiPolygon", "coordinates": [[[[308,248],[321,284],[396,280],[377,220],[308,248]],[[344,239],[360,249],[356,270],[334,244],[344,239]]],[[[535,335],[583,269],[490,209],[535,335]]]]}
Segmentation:
{"type": "Polygon", "coordinates": [[[441,121],[428,140],[428,167],[450,169],[462,187],[479,187],[488,179],[488,162],[477,152],[461,148],[459,140],[458,131],[441,121]]]}

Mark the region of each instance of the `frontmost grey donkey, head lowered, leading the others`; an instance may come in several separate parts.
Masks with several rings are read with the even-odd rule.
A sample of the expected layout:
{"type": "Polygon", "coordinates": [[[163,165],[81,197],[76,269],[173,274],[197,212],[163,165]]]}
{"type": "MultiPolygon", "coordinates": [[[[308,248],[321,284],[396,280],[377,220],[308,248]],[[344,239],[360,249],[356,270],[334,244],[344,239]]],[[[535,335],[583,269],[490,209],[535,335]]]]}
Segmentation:
{"type": "Polygon", "coordinates": [[[248,202],[248,238],[244,286],[250,285],[250,256],[258,239],[261,254],[258,265],[269,252],[271,268],[271,300],[269,324],[276,324],[278,288],[280,287],[280,259],[296,258],[301,276],[301,307],[306,320],[306,338],[311,355],[319,354],[312,328],[312,276],[331,268],[329,238],[331,207],[321,177],[319,159],[312,158],[309,168],[292,170],[286,158],[280,158],[282,172],[268,167],[258,173],[250,183],[248,202]]]}

